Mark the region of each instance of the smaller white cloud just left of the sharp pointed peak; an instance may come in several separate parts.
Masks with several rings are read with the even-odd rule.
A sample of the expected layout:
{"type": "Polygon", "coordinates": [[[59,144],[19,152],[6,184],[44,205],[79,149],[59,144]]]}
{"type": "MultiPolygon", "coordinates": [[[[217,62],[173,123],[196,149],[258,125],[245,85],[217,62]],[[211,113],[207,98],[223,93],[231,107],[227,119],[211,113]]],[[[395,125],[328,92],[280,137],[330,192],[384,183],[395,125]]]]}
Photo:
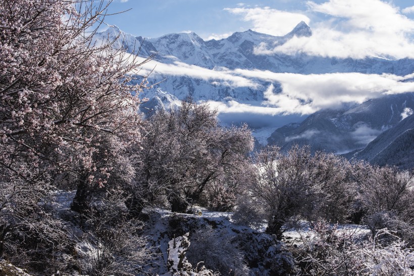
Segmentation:
{"type": "Polygon", "coordinates": [[[244,21],[250,21],[253,24],[253,30],[256,32],[281,36],[290,32],[300,21],[309,24],[310,19],[299,13],[290,13],[265,8],[226,8],[235,15],[242,15],[244,21]]]}

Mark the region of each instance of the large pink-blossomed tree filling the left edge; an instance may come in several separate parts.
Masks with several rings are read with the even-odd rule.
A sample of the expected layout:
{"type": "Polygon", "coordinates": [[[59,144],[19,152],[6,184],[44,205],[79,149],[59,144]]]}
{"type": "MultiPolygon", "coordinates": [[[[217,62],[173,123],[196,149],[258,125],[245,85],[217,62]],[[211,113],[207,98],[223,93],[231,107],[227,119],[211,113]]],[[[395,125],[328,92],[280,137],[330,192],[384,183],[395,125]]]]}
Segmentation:
{"type": "Polygon", "coordinates": [[[105,184],[110,168],[95,168],[102,138],[122,149],[139,141],[139,99],[129,73],[137,58],[94,45],[95,23],[105,2],[8,1],[0,5],[0,165],[30,181],[24,164],[47,163],[87,182],[105,184]],[[85,5],[87,5],[85,7],[85,5]],[[131,58],[132,57],[132,58],[131,58]],[[99,170],[95,179],[86,172],[99,170]]]}

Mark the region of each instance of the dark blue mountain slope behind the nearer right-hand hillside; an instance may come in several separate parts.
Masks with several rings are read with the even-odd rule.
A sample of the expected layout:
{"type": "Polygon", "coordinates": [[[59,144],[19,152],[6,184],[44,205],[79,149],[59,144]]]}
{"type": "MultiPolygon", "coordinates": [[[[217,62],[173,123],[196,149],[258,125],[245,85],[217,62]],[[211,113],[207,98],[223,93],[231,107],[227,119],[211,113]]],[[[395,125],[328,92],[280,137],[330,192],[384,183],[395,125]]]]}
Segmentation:
{"type": "Polygon", "coordinates": [[[372,152],[383,149],[390,143],[389,139],[395,139],[398,133],[408,128],[403,122],[411,116],[401,122],[406,108],[414,108],[414,93],[372,99],[348,109],[320,111],[310,115],[301,124],[290,124],[277,129],[268,138],[268,143],[277,144],[283,150],[287,150],[293,144],[308,144],[313,151],[345,153],[364,148],[381,132],[390,129],[387,133],[392,138],[385,139],[384,135],[380,135],[377,138],[378,142],[372,145],[377,145],[375,150],[367,150],[365,154],[365,151],[358,153],[358,158],[370,160],[373,157],[370,154],[374,154],[372,152]],[[396,131],[397,126],[401,124],[398,128],[402,130],[396,131]]]}

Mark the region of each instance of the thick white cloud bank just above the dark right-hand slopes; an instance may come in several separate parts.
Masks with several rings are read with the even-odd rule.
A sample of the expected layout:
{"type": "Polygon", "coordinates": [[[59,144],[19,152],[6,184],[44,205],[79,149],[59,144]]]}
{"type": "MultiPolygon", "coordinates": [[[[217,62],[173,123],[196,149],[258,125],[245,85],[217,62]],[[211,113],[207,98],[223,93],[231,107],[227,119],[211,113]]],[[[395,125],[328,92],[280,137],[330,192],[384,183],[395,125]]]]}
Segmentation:
{"type": "Polygon", "coordinates": [[[331,73],[292,74],[236,69],[244,77],[279,82],[282,91],[271,85],[265,92],[267,106],[279,107],[284,113],[312,114],[323,108],[337,108],[344,103],[362,103],[386,94],[414,91],[414,82],[402,82],[411,75],[331,73]]]}

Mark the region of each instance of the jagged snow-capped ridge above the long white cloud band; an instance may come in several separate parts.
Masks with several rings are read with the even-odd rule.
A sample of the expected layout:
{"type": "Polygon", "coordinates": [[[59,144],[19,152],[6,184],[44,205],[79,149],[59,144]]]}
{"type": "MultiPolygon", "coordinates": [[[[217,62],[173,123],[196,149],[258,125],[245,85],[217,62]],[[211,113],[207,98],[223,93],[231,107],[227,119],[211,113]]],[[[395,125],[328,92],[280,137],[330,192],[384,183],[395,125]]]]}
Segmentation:
{"type": "MultiPolygon", "coordinates": [[[[285,36],[272,36],[268,34],[247,30],[235,32],[228,38],[221,40],[204,41],[196,33],[173,33],[158,38],[142,38],[122,32],[113,26],[96,35],[99,39],[116,38],[116,47],[121,45],[129,52],[140,48],[139,56],[148,57],[157,52],[156,60],[169,64],[182,62],[202,68],[228,68],[228,69],[258,69],[269,70],[275,73],[392,73],[395,75],[408,75],[414,71],[412,60],[389,60],[380,58],[366,58],[354,60],[351,58],[324,58],[307,56],[305,53],[289,56],[283,53],[272,55],[256,54],[255,47],[263,44],[277,46],[284,44],[293,36],[310,36],[312,30],[304,22],[300,22],[285,36]],[[142,45],[142,46],[141,46],[142,45]]],[[[173,93],[173,92],[170,92],[173,93]]]]}

